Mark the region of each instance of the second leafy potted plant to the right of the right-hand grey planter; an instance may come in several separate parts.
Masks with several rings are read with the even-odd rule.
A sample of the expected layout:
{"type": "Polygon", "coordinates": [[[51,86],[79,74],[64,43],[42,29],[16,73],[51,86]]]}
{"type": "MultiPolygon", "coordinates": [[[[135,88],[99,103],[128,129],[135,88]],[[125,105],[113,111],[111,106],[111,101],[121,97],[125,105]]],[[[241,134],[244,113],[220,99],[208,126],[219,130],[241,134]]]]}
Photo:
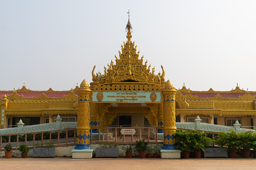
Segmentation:
{"type": "Polygon", "coordinates": [[[241,132],[238,134],[240,137],[240,149],[244,158],[250,157],[250,149],[253,148],[253,143],[255,143],[255,138],[252,131],[241,132]]]}

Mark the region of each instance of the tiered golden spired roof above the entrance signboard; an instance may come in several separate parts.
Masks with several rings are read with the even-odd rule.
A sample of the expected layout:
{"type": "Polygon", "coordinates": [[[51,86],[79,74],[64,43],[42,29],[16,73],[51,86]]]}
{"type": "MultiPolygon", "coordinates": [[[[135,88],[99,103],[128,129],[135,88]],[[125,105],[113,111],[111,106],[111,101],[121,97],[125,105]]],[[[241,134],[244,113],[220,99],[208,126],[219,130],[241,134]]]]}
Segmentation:
{"type": "Polygon", "coordinates": [[[128,20],[126,26],[127,29],[127,41],[124,42],[122,52],[119,51],[119,58],[115,56],[115,63],[111,60],[107,67],[104,66],[104,74],[97,73],[95,75],[94,66],[92,71],[94,85],[111,85],[111,84],[122,84],[122,83],[134,83],[141,84],[145,83],[148,85],[159,85],[161,86],[164,82],[164,70],[162,68],[162,74],[160,72],[155,74],[155,68],[150,69],[151,64],[147,65],[147,60],[143,63],[143,58],[139,58],[139,51],[137,52],[137,45],[131,41],[131,23],[128,20]]]}

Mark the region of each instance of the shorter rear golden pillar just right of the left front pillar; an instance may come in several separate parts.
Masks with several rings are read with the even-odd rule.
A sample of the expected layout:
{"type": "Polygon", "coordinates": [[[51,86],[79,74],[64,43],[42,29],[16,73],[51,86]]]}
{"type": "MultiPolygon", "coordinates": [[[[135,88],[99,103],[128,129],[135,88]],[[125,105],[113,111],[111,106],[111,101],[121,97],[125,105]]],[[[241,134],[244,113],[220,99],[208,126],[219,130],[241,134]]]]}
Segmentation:
{"type": "MultiPolygon", "coordinates": [[[[90,103],[91,106],[91,120],[90,127],[99,127],[99,119],[100,119],[100,103],[90,103]]],[[[98,129],[93,129],[93,133],[98,133],[98,129]]]]}

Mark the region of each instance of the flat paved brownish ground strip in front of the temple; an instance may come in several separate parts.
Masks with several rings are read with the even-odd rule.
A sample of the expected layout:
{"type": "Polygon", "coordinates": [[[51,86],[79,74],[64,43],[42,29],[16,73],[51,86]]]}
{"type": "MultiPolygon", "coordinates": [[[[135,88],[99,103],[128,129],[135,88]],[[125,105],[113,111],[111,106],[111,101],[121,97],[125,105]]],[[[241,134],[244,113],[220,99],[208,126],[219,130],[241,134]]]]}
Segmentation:
{"type": "Polygon", "coordinates": [[[256,169],[256,158],[0,158],[1,169],[256,169]]]}

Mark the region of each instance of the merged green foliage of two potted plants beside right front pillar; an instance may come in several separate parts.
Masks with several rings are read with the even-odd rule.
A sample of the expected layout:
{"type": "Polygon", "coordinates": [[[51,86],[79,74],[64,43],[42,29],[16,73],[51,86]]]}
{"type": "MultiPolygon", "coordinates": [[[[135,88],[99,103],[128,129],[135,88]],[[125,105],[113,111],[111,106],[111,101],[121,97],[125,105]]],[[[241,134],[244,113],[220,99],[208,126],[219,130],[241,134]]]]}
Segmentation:
{"type": "Polygon", "coordinates": [[[177,130],[175,144],[181,151],[205,151],[212,144],[212,139],[205,137],[206,133],[197,130],[177,130]]]}

